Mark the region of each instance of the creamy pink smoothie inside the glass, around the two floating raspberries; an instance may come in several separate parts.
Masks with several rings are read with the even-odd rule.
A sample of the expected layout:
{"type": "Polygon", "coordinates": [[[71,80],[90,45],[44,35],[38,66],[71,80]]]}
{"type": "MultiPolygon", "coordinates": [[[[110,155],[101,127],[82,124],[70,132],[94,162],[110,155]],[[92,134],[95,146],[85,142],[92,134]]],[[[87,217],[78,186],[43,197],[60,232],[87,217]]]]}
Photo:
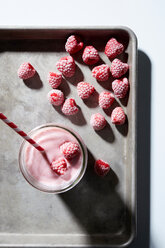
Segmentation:
{"type": "Polygon", "coordinates": [[[50,163],[63,157],[60,151],[60,146],[63,143],[71,141],[80,146],[77,139],[71,133],[59,127],[39,129],[31,137],[45,149],[48,160],[32,145],[27,144],[24,153],[24,163],[28,174],[41,184],[56,190],[66,188],[72,184],[82,169],[83,152],[81,147],[78,156],[72,160],[66,160],[67,170],[64,175],[57,175],[50,168],[50,163]]]}

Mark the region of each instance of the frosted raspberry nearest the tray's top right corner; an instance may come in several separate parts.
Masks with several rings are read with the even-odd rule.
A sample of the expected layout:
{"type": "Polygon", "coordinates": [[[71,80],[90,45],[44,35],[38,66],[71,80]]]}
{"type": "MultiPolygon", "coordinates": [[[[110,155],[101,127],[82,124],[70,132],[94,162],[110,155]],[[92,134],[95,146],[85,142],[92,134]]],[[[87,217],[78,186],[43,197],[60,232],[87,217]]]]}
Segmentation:
{"type": "Polygon", "coordinates": [[[124,51],[123,44],[119,43],[115,38],[111,38],[105,46],[105,54],[110,59],[114,59],[117,55],[124,51]]]}

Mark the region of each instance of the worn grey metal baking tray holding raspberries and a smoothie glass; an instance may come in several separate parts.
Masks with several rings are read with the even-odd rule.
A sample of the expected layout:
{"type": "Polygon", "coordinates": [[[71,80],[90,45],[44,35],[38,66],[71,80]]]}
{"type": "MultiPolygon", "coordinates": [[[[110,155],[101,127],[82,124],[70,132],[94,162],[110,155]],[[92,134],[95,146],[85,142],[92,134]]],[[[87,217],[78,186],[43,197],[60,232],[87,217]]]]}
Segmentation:
{"type": "Polygon", "coordinates": [[[60,195],[45,194],[24,180],[18,168],[22,139],[0,123],[0,247],[114,247],[132,241],[136,233],[136,58],[136,37],[126,27],[0,29],[1,111],[26,132],[47,122],[71,127],[82,136],[89,152],[86,174],[75,188],[60,195]],[[103,52],[110,37],[125,45],[119,58],[130,65],[130,92],[113,105],[124,108],[125,125],[111,124],[111,110],[104,112],[98,107],[98,93],[86,101],[77,96],[76,84],[82,80],[91,82],[97,92],[111,90],[112,78],[96,82],[92,67],[82,63],[82,52],[73,56],[75,76],[64,79],[60,86],[66,97],[75,97],[81,110],[67,118],[60,108],[48,104],[47,74],[55,71],[56,61],[66,55],[64,44],[73,33],[99,50],[99,63],[111,63],[103,52]],[[31,62],[38,74],[23,82],[17,69],[25,61],[31,62]],[[89,125],[95,112],[108,122],[99,132],[89,125]],[[105,178],[93,172],[98,158],[111,164],[105,178]]]}

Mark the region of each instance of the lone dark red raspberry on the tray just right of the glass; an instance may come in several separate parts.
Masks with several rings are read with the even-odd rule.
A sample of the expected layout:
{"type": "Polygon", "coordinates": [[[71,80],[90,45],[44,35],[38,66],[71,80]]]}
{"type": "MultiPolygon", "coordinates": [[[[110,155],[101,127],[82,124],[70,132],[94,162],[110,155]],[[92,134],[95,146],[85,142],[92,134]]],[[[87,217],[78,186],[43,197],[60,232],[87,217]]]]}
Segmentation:
{"type": "Polygon", "coordinates": [[[97,175],[105,176],[110,170],[110,165],[106,163],[105,161],[103,161],[102,159],[98,159],[95,162],[94,170],[97,175]]]}

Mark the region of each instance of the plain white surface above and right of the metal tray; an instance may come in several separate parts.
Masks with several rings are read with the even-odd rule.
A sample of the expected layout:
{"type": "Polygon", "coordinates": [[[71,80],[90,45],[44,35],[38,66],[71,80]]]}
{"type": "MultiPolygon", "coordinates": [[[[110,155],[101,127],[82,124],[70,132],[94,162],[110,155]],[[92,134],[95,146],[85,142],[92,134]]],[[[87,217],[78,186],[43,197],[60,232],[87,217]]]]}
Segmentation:
{"type": "MultiPolygon", "coordinates": [[[[147,54],[152,65],[150,247],[164,248],[165,1],[0,0],[0,10],[0,25],[2,26],[124,25],[135,32],[138,37],[138,48],[147,54]]],[[[144,81],[143,83],[145,85],[146,82],[144,81]]],[[[138,181],[140,182],[139,178],[138,181]]],[[[143,203],[141,206],[143,206],[143,203]]],[[[145,232],[143,228],[143,233],[140,234],[139,229],[137,237],[140,237],[141,240],[135,241],[131,247],[148,248],[146,244],[143,245],[147,235],[147,230],[145,232]]]]}

